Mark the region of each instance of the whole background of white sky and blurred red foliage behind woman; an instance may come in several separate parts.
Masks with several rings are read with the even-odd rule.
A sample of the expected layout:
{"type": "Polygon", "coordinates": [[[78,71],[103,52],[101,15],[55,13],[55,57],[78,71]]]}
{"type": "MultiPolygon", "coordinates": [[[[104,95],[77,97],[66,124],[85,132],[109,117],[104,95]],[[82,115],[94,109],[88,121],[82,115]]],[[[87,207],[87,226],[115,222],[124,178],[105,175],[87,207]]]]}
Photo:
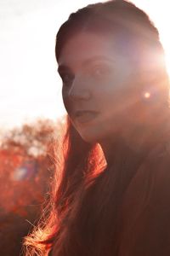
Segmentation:
{"type": "MultiPolygon", "coordinates": [[[[98,1],[0,0],[0,254],[18,256],[54,173],[49,153],[65,109],[55,34],[71,12],[98,1]],[[10,241],[10,243],[9,243],[10,241]]],[[[170,73],[168,1],[131,1],[160,31],[170,73]]]]}

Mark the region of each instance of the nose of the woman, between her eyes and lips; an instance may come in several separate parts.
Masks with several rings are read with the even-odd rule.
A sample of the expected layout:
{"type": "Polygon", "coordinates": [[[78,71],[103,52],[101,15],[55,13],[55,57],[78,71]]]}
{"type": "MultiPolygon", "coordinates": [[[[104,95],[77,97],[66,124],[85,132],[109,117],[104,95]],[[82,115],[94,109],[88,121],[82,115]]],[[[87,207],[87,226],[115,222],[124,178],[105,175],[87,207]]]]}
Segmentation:
{"type": "Polygon", "coordinates": [[[76,100],[84,100],[88,101],[90,98],[90,88],[89,88],[89,81],[87,77],[82,75],[75,76],[74,80],[72,81],[71,88],[68,91],[68,96],[71,101],[76,100]]]}

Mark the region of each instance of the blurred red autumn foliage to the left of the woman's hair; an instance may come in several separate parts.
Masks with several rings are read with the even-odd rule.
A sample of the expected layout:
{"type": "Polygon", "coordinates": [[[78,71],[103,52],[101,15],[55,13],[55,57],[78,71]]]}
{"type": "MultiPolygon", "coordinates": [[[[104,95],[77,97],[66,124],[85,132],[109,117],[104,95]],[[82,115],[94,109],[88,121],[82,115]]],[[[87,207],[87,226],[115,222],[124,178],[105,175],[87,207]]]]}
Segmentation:
{"type": "Polygon", "coordinates": [[[7,131],[0,147],[0,255],[21,255],[24,236],[48,200],[54,174],[53,144],[61,123],[37,120],[7,131]]]}

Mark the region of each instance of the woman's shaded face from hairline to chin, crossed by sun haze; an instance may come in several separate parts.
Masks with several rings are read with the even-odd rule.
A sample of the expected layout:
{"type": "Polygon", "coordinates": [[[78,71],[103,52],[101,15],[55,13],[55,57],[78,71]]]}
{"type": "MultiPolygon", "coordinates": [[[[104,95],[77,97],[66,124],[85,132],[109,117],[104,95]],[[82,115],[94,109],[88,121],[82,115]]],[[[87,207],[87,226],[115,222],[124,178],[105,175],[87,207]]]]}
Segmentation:
{"type": "Polygon", "coordinates": [[[133,105],[132,66],[114,40],[82,32],[59,55],[63,101],[72,124],[88,143],[122,132],[133,105]]]}

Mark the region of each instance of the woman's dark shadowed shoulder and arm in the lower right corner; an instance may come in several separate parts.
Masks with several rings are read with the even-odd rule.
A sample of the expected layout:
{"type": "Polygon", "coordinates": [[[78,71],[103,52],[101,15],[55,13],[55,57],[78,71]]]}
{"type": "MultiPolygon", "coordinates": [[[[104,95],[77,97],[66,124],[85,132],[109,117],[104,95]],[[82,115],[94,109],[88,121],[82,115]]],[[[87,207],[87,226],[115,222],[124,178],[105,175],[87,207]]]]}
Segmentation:
{"type": "Polygon", "coordinates": [[[170,255],[170,148],[156,147],[125,193],[118,256],[170,255]]]}

